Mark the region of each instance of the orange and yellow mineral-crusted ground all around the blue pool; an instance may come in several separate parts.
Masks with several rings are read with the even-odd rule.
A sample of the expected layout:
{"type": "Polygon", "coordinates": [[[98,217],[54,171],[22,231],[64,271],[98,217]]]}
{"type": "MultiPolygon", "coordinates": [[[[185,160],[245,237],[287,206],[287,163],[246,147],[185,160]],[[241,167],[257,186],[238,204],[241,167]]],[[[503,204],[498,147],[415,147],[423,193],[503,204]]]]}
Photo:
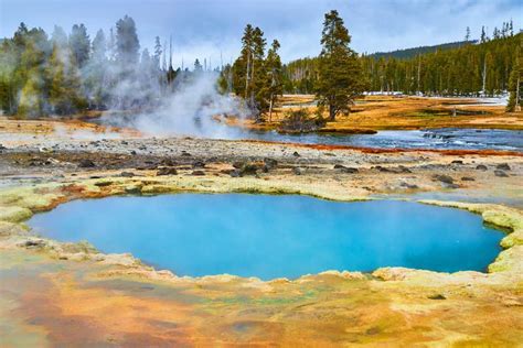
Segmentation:
{"type": "Polygon", "coordinates": [[[2,346],[521,344],[522,154],[135,135],[0,134],[2,346]],[[71,199],[180,191],[433,198],[481,214],[508,236],[488,273],[393,268],[263,282],[178,278],[23,225],[71,199]]]}

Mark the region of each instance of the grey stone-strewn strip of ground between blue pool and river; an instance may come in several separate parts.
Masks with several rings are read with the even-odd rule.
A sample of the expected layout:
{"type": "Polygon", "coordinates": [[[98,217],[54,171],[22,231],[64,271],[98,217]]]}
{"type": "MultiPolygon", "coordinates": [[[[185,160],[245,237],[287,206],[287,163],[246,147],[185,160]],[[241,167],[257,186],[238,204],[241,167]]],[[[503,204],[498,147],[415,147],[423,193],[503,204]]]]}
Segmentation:
{"type": "Polygon", "coordinates": [[[35,177],[249,176],[328,183],[353,196],[438,193],[522,207],[523,155],[482,151],[380,151],[204,139],[45,141],[2,150],[6,184],[35,177]],[[108,172],[108,173],[105,173],[108,172]]]}

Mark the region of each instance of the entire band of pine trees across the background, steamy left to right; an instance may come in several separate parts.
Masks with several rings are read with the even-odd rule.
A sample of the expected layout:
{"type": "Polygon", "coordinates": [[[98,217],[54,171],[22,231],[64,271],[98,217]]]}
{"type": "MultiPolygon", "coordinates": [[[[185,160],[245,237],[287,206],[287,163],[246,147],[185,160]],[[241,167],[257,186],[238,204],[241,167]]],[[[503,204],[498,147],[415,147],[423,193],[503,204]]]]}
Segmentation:
{"type": "MultiPolygon", "coordinates": [[[[342,19],[331,11],[325,14],[322,53],[282,65],[279,42],[274,40],[267,50],[264,32],[248,24],[237,59],[216,69],[217,87],[243,98],[258,121],[265,116],[270,119],[284,93],[316,94],[330,107],[332,100],[341,100],[330,110],[331,118],[363,90],[425,96],[511,91],[508,109],[521,105],[523,33],[514,34],[510,21],[494,29],[491,39],[484,29],[478,42],[470,40],[470,29],[465,39],[436,50],[407,50],[408,54],[399,56],[357,55],[349,47],[351,37],[342,19]],[[338,37],[339,46],[331,47],[325,31],[334,26],[343,37],[338,37]]],[[[158,36],[152,54],[140,51],[135,21],[127,15],[108,35],[99,30],[93,40],[84,24],[73,25],[70,34],[55,26],[49,36],[42,29],[21,23],[13,37],[0,42],[0,108],[4,115],[21,118],[145,109],[210,66],[206,59],[203,65],[196,59],[192,72],[174,69],[172,43],[168,55],[167,42],[162,44],[158,36]]]]}

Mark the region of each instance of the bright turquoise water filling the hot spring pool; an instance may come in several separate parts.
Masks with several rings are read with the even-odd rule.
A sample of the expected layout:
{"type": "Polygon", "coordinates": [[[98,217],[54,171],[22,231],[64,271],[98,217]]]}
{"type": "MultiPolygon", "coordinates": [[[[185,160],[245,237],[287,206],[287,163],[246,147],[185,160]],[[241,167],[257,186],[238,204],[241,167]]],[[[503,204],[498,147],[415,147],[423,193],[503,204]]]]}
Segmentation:
{"type": "Polygon", "coordinates": [[[76,200],[29,225],[53,239],[131,252],[179,275],[264,280],[380,267],[484,271],[503,237],[465,210],[246,194],[76,200]]]}

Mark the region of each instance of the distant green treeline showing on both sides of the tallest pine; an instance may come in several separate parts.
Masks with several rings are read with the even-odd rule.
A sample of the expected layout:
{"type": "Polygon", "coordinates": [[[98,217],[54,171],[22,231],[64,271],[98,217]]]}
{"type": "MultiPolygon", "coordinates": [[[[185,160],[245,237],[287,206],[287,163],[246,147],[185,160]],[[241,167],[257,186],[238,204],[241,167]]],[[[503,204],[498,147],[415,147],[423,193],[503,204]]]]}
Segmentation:
{"type": "MultiPolygon", "coordinates": [[[[504,23],[492,40],[482,34],[471,41],[360,56],[369,91],[402,91],[440,96],[499,95],[509,89],[510,74],[523,34],[504,23]],[[452,47],[452,48],[450,48],[452,47]],[[416,51],[418,50],[418,51],[416,51]],[[428,51],[428,53],[424,53],[428,51]],[[412,56],[413,52],[417,52],[412,56]]],[[[285,93],[313,94],[318,58],[302,58],[284,66],[285,93]]]]}

